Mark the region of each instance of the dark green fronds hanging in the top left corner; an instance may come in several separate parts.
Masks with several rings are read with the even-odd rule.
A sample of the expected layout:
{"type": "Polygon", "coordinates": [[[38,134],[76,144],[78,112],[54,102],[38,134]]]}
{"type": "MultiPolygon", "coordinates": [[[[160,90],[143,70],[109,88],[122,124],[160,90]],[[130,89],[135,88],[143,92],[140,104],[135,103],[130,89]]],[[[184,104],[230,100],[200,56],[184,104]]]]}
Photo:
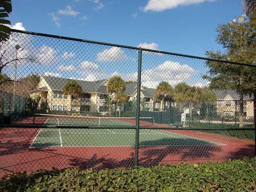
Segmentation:
{"type": "Polygon", "coordinates": [[[0,42],[9,39],[11,34],[10,27],[6,24],[11,24],[9,20],[4,18],[8,17],[12,12],[12,1],[11,0],[0,0],[0,42]]]}

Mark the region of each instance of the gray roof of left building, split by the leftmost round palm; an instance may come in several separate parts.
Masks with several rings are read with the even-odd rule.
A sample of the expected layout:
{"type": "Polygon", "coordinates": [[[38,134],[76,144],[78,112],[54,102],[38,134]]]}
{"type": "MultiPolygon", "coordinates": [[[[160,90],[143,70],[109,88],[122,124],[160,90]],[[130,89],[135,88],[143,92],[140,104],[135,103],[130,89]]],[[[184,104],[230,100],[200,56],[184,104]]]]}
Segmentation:
{"type": "MultiPolygon", "coordinates": [[[[44,76],[44,80],[48,83],[52,90],[62,90],[65,84],[70,81],[71,79],[64,79],[58,77],[49,77],[44,76]]],[[[106,81],[106,79],[98,80],[98,81],[83,81],[83,80],[76,80],[82,87],[82,92],[87,93],[104,93],[106,92],[106,86],[102,86],[102,84],[106,81]]]]}

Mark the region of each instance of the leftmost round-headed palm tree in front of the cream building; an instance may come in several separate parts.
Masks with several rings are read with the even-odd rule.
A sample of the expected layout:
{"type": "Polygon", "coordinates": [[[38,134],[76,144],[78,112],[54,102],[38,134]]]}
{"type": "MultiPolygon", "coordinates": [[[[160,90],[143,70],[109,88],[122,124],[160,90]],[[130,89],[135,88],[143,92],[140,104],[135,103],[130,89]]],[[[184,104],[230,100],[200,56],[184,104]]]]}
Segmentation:
{"type": "Polygon", "coordinates": [[[70,96],[70,111],[72,111],[72,102],[74,98],[77,98],[82,93],[82,87],[75,80],[68,81],[62,89],[64,95],[70,96]]]}

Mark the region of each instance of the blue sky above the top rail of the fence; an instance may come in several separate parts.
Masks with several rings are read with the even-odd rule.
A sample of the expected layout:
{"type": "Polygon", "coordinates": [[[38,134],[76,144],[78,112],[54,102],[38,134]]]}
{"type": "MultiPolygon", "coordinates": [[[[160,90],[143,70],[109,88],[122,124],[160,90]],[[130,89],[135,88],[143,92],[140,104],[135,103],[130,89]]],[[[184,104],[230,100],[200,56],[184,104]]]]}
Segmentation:
{"type": "Polygon", "coordinates": [[[243,14],[240,0],[13,0],[12,6],[12,25],[27,31],[196,56],[220,49],[216,27],[243,14]]]}

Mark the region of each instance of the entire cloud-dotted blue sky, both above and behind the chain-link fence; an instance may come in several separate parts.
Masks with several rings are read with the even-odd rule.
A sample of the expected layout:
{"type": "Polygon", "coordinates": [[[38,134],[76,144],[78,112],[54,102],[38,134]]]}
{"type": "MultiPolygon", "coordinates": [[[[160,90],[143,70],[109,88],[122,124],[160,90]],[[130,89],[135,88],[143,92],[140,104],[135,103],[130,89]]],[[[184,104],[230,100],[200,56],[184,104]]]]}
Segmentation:
{"type": "MultiPolygon", "coordinates": [[[[12,28],[205,57],[222,49],[215,42],[218,24],[244,14],[239,0],[13,0],[12,28]]],[[[9,57],[33,56],[40,64],[18,62],[17,76],[31,73],[94,81],[120,75],[137,80],[138,52],[60,40],[39,41],[13,35],[9,57]],[[69,42],[70,43],[70,42],[69,42]],[[71,43],[70,43],[71,44],[71,43]],[[83,52],[86,50],[85,52],[83,52]]],[[[205,62],[163,54],[143,54],[142,85],[160,81],[207,86],[205,62]]],[[[13,78],[13,66],[6,74],[13,78]]]]}

